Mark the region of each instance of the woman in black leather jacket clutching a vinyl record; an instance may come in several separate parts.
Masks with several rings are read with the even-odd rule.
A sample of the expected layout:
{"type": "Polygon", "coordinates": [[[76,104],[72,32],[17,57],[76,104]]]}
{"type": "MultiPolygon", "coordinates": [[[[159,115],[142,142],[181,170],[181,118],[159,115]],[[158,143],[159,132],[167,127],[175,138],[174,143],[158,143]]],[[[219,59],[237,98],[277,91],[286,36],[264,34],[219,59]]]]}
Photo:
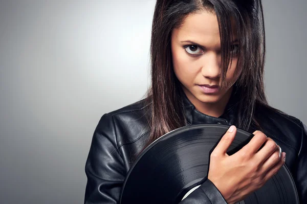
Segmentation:
{"type": "Polygon", "coordinates": [[[268,105],[264,57],[260,0],[158,0],[151,88],[145,100],[99,121],[85,166],[85,203],[118,203],[125,176],[146,146],[200,123],[231,126],[210,156],[208,179],[180,203],[238,202],[285,162],[306,203],[306,128],[268,105]],[[236,127],[255,136],[229,156],[236,127]]]}

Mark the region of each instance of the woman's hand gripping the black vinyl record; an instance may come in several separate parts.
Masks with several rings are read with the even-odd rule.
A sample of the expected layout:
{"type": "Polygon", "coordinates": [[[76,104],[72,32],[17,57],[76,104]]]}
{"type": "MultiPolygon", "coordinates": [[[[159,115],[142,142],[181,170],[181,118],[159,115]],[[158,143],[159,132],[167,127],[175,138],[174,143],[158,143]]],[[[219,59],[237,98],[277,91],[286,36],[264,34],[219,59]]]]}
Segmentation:
{"type": "Polygon", "coordinates": [[[261,131],[255,131],[247,145],[229,156],[226,152],[235,134],[236,127],[231,126],[214,148],[208,172],[208,179],[229,204],[264,186],[286,161],[286,153],[281,153],[281,148],[261,131]]]}

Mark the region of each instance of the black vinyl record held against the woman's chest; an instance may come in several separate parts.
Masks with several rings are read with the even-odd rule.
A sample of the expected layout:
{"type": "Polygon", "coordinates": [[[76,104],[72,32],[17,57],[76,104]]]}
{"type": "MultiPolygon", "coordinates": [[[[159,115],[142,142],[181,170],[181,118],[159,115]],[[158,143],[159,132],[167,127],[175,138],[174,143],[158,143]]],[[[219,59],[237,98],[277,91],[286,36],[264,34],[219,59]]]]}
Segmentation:
{"type": "MultiPolygon", "coordinates": [[[[121,204],[178,203],[206,179],[209,156],[229,126],[190,125],[173,130],[150,144],[130,168],[120,195],[121,204]]],[[[253,134],[237,129],[231,155],[247,144],[253,134]]],[[[296,204],[293,178],[283,167],[259,190],[238,203],[296,204]]]]}

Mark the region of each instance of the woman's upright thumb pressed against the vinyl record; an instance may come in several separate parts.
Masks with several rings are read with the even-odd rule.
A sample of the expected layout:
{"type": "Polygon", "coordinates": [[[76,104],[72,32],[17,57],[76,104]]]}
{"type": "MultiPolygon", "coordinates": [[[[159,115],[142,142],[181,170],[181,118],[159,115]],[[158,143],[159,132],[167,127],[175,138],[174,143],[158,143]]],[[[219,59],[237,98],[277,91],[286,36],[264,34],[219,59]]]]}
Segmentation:
{"type": "Polygon", "coordinates": [[[232,141],[234,140],[235,134],[236,134],[236,127],[232,125],[228,128],[227,132],[223,135],[221,141],[218,142],[213,152],[217,154],[226,154],[227,149],[229,148],[232,141]]]}

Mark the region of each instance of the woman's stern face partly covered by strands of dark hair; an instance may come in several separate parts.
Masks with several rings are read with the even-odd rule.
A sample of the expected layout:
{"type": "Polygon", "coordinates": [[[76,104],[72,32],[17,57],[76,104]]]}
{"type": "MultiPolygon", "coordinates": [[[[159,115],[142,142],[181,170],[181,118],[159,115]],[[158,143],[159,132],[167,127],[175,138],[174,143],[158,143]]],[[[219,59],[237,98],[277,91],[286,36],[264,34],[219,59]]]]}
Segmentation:
{"type": "Polygon", "coordinates": [[[231,84],[220,88],[221,42],[217,18],[214,13],[202,11],[189,14],[180,28],[171,34],[173,70],[182,83],[188,99],[196,106],[228,102],[239,49],[237,36],[233,34],[232,63],[226,81],[231,84]]]}

